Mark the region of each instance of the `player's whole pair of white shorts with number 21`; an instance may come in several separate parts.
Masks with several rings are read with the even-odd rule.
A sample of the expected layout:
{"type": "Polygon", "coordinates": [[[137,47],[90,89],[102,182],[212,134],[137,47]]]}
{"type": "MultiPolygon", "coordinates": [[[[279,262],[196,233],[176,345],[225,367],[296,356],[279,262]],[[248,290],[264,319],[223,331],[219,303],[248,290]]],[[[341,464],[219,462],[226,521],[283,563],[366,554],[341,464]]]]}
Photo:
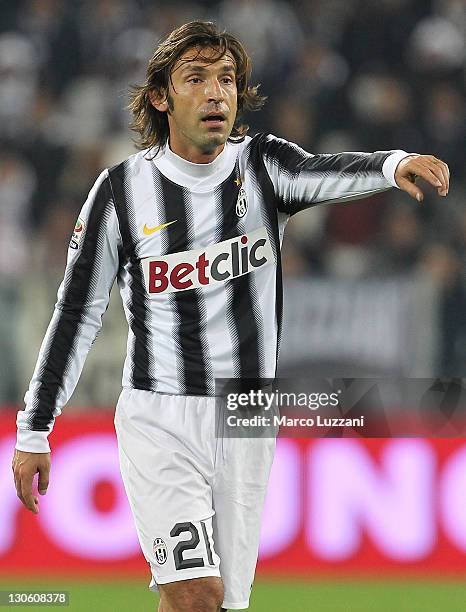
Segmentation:
{"type": "Polygon", "coordinates": [[[149,588],[221,576],[223,607],[242,610],[275,438],[225,438],[215,408],[214,397],[123,389],[115,412],[120,467],[149,588]]]}

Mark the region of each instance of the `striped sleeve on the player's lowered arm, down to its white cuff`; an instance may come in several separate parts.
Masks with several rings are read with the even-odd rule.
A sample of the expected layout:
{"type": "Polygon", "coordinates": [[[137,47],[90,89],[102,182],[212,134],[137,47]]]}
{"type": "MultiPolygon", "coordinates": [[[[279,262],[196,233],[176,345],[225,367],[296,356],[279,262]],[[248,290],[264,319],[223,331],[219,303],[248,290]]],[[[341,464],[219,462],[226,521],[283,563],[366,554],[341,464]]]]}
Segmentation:
{"type": "Polygon", "coordinates": [[[121,236],[105,170],[81,210],[63,282],[42,342],[26,408],[17,415],[16,449],[49,453],[55,417],[73,393],[102,324],[119,267],[121,236]]]}

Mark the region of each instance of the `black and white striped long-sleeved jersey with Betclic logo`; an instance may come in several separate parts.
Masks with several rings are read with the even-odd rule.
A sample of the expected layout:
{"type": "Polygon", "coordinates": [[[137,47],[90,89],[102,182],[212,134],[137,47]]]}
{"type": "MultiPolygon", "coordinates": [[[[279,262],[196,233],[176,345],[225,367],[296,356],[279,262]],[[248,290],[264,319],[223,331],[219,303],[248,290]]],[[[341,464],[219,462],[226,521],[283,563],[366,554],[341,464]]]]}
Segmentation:
{"type": "Polygon", "coordinates": [[[216,379],[273,378],[287,220],[396,186],[404,151],[311,155],[271,135],[211,163],[165,147],[105,170],[80,213],[64,280],[18,412],[20,450],[46,452],[117,279],[129,326],[123,386],[214,395],[216,379]]]}

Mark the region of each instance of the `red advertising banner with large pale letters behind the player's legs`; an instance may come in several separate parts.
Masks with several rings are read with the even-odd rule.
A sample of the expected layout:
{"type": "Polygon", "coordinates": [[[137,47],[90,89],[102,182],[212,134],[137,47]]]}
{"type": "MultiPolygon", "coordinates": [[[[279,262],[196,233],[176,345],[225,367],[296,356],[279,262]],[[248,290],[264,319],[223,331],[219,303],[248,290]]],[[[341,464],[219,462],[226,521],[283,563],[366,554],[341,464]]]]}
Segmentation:
{"type": "MultiPolygon", "coordinates": [[[[15,411],[0,418],[0,572],[144,574],[113,416],[61,416],[36,516],[11,473],[15,411]]],[[[260,574],[466,576],[466,441],[280,439],[260,574]]]]}

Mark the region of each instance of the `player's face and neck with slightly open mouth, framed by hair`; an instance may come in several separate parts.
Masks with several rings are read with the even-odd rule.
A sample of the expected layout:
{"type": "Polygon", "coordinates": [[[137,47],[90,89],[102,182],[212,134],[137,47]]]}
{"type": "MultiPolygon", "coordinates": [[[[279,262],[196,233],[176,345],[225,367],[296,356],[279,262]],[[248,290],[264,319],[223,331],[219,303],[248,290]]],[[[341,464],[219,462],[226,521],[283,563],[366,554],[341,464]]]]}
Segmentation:
{"type": "Polygon", "coordinates": [[[235,61],[226,53],[208,63],[215,53],[210,48],[188,49],[172,70],[167,98],[170,147],[187,159],[198,153],[217,155],[235,122],[235,61]]]}

